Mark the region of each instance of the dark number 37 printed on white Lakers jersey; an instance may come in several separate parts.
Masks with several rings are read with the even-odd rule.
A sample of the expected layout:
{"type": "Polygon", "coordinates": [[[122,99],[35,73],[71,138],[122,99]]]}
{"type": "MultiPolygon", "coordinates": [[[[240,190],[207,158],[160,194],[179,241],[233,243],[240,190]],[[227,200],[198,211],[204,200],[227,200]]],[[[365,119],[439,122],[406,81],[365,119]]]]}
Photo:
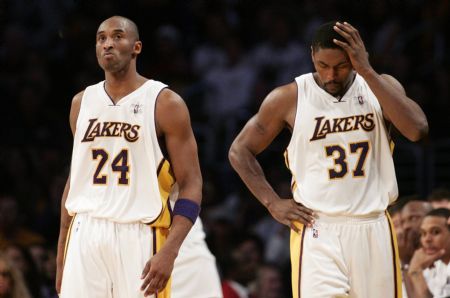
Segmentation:
{"type": "MultiPolygon", "coordinates": [[[[358,161],[352,170],[353,177],[364,177],[364,163],[370,150],[368,141],[349,144],[350,154],[358,153],[358,161]]],[[[334,168],[328,169],[330,179],[343,178],[348,172],[347,154],[344,147],[331,145],[325,147],[327,157],[334,158],[334,168]]]]}

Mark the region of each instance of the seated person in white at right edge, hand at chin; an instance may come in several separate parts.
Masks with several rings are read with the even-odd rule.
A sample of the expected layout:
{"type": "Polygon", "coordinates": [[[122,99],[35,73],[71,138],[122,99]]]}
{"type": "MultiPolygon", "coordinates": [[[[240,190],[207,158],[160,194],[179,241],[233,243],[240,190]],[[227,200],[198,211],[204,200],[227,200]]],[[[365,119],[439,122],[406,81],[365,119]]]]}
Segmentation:
{"type": "Polygon", "coordinates": [[[410,298],[450,297],[450,210],[430,211],[421,224],[422,247],[414,252],[405,282],[410,298]]]}

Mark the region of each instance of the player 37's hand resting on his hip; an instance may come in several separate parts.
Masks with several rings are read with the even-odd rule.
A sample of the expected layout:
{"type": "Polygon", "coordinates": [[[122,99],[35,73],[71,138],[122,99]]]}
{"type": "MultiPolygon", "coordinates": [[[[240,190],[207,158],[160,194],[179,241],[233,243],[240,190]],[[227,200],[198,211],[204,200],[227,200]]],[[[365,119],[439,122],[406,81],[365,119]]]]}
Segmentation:
{"type": "Polygon", "coordinates": [[[299,231],[295,222],[300,222],[306,226],[314,223],[314,212],[295,202],[293,199],[279,199],[269,206],[269,212],[280,223],[287,225],[296,232],[299,231]]]}

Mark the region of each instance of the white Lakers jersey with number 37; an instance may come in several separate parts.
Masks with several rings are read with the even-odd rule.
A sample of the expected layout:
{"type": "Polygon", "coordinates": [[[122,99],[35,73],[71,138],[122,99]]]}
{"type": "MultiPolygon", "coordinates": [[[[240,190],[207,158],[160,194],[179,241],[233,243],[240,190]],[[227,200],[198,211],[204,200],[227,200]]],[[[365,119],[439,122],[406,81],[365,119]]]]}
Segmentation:
{"type": "Polygon", "coordinates": [[[297,111],[286,162],[294,199],[325,214],[384,211],[398,195],[390,138],[381,106],[356,75],[338,100],[313,74],[295,79],[297,111]]]}

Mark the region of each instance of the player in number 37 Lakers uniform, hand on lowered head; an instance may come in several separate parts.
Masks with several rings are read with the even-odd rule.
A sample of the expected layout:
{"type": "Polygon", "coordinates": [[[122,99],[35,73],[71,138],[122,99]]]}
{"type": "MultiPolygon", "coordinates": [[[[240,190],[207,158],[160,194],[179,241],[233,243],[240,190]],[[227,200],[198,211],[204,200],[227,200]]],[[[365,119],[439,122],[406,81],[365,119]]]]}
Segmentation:
{"type": "Polygon", "coordinates": [[[417,141],[428,131],[420,107],[369,64],[350,24],[320,26],[315,72],[273,90],[230,149],[243,181],[291,230],[294,297],[399,297],[401,277],[386,208],[397,198],[389,127],[417,141]],[[283,128],[294,199],[283,200],[256,155],[283,128]]]}

